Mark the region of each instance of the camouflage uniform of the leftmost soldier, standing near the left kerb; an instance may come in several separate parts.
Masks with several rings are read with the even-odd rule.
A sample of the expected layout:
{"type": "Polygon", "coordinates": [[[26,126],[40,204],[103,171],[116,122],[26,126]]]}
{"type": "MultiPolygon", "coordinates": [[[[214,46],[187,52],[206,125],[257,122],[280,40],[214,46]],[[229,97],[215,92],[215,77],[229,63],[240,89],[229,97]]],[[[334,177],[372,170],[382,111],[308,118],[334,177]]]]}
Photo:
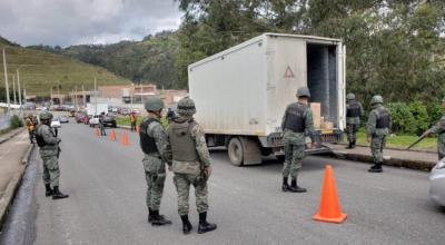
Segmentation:
{"type": "Polygon", "coordinates": [[[36,135],[43,138],[46,145],[40,147],[40,157],[43,161],[43,184],[59,186],[59,143],[55,133],[48,125],[39,125],[36,129],[36,135]]]}

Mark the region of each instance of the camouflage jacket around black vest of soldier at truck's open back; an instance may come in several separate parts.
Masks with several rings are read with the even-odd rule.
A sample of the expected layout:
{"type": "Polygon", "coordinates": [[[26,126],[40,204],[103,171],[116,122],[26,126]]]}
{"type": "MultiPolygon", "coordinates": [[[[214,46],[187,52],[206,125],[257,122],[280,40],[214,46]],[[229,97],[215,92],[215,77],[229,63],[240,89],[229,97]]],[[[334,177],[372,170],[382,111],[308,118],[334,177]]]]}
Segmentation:
{"type": "Polygon", "coordinates": [[[287,106],[285,115],[283,116],[281,119],[281,129],[285,133],[285,144],[294,144],[294,145],[305,145],[306,144],[306,136],[310,137],[310,139],[314,143],[314,118],[313,118],[313,111],[310,110],[310,108],[303,102],[296,102],[299,106],[305,107],[305,112],[304,112],[304,117],[305,117],[305,133],[295,133],[291,130],[287,130],[285,129],[285,122],[286,122],[286,117],[287,117],[287,109],[289,108],[289,106],[287,106]]]}

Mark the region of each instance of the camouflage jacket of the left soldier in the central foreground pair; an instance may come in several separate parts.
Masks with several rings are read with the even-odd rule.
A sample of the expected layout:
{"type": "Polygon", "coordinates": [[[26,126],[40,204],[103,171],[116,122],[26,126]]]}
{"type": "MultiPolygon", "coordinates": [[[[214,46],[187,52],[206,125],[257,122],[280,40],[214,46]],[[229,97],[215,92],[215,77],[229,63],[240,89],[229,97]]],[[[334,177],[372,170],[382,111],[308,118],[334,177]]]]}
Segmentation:
{"type": "Polygon", "coordinates": [[[152,121],[148,125],[147,135],[155,139],[158,151],[152,154],[146,154],[146,158],[161,157],[164,161],[171,164],[171,147],[170,143],[168,141],[167,133],[164,129],[162,125],[159,122],[158,118],[156,118],[152,115],[148,115],[148,117],[146,117],[144,121],[147,121],[149,119],[156,119],[156,121],[152,121]]]}

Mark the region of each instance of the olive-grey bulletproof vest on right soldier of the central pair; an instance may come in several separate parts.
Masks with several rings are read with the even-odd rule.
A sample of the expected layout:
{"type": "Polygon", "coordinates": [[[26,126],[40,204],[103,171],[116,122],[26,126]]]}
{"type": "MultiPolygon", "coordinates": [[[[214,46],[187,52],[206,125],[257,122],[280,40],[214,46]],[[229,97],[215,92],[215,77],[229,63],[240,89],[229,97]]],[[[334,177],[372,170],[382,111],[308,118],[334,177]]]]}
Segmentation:
{"type": "Polygon", "coordinates": [[[168,137],[171,144],[174,160],[196,161],[198,153],[191,137],[191,129],[197,125],[194,120],[185,122],[171,122],[168,128],[168,137]]]}

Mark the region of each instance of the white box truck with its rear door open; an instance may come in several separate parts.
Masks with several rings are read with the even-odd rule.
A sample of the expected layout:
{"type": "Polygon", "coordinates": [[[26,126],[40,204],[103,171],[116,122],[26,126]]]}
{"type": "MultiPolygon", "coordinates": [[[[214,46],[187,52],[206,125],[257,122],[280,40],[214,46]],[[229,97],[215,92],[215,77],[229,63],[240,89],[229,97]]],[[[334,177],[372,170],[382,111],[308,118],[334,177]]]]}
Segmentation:
{"type": "Polygon", "coordinates": [[[334,125],[316,130],[316,149],[337,143],[346,124],[345,52],[342,40],[264,33],[188,67],[189,96],[208,146],[226,146],[234,165],[283,158],[281,118],[296,90],[307,86],[310,101],[334,125]]]}

